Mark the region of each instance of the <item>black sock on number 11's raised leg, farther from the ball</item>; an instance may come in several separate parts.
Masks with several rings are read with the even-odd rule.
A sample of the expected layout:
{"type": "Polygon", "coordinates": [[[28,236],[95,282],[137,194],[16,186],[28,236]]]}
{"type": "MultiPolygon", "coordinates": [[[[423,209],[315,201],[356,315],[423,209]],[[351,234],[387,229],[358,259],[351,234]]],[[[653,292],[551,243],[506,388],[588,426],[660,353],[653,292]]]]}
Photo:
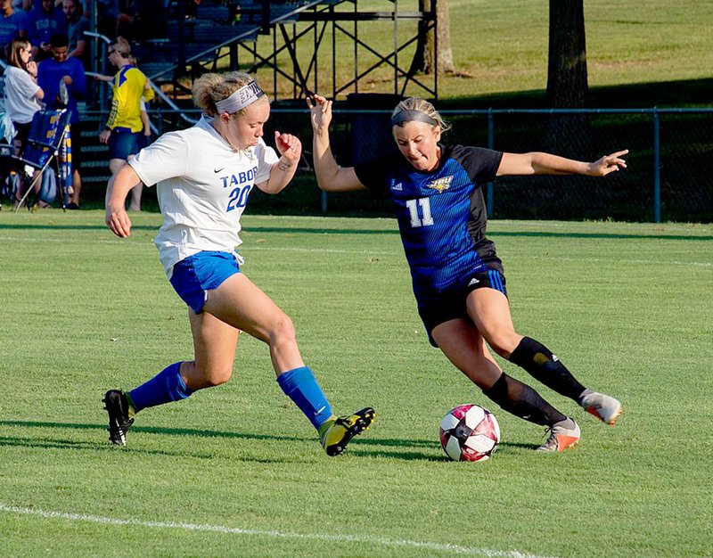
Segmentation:
{"type": "Polygon", "coordinates": [[[523,337],[512,351],[510,362],[528,371],[533,377],[557,393],[578,400],[585,387],[567,370],[560,359],[545,345],[529,337],[523,337]]]}

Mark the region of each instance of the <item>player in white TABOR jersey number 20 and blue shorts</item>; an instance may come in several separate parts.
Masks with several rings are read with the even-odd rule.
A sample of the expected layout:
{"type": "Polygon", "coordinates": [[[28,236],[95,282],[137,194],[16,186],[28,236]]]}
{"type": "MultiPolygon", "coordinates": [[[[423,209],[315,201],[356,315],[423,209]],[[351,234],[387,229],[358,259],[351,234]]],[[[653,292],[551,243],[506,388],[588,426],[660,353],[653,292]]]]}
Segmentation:
{"type": "Polygon", "coordinates": [[[193,102],[204,113],[198,124],[162,135],[114,177],[106,224],[127,237],[127,193],[139,182],[156,185],[164,222],[155,243],[170,283],[189,307],[194,357],[169,365],[135,390],[107,391],[109,438],[124,445],[139,411],[227,382],[243,331],[269,346],[278,384],[315,426],[327,454],[339,455],[372,423],[373,409],[332,414],[302,361],[289,316],[242,274],[242,258],[235,252],[250,191],[255,186],[266,193],[283,190],[302,146],[296,136],[279,132],[279,157],[265,144],[270,103],[248,74],[202,76],[193,86],[193,102]]]}

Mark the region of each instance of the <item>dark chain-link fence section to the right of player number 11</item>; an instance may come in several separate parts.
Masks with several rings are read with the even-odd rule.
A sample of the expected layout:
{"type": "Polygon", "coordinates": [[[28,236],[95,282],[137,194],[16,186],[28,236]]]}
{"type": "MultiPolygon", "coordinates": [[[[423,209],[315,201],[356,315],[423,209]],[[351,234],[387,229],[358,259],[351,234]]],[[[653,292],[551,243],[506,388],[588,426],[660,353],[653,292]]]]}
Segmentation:
{"type": "Polygon", "coordinates": [[[586,176],[506,177],[488,185],[491,216],[503,218],[710,221],[713,111],[485,111],[453,113],[450,141],[509,152],[546,151],[596,160],[628,149],[627,169],[586,176]]]}

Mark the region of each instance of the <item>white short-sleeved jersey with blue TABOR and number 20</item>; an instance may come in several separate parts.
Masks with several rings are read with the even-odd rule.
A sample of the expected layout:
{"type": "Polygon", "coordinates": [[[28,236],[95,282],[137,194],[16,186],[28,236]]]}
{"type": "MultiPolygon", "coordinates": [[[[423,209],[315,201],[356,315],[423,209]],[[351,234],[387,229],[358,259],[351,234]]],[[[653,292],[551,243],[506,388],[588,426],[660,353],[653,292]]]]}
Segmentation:
{"type": "Polygon", "coordinates": [[[202,250],[232,252],[240,217],[256,183],[277,162],[262,138],[235,152],[208,119],[169,132],[129,161],[144,185],[156,185],[163,226],[154,241],[170,278],[173,267],[202,250]]]}

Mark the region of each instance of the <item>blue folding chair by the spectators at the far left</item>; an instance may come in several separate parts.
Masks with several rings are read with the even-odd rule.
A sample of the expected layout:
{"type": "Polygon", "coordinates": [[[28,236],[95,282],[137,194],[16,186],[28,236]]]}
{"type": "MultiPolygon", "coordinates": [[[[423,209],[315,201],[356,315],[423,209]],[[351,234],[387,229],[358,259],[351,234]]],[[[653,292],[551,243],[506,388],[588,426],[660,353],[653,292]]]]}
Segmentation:
{"type": "MultiPolygon", "coordinates": [[[[19,154],[15,154],[12,141],[0,143],[0,176],[6,177],[4,187],[17,201],[16,212],[25,203],[32,210],[41,201],[51,203],[58,197],[61,208],[66,209],[72,184],[69,123],[67,109],[37,111],[19,154]],[[50,167],[53,161],[56,174],[50,167]],[[21,197],[20,181],[25,185],[21,197]]],[[[5,140],[12,137],[5,132],[5,140]]]]}

